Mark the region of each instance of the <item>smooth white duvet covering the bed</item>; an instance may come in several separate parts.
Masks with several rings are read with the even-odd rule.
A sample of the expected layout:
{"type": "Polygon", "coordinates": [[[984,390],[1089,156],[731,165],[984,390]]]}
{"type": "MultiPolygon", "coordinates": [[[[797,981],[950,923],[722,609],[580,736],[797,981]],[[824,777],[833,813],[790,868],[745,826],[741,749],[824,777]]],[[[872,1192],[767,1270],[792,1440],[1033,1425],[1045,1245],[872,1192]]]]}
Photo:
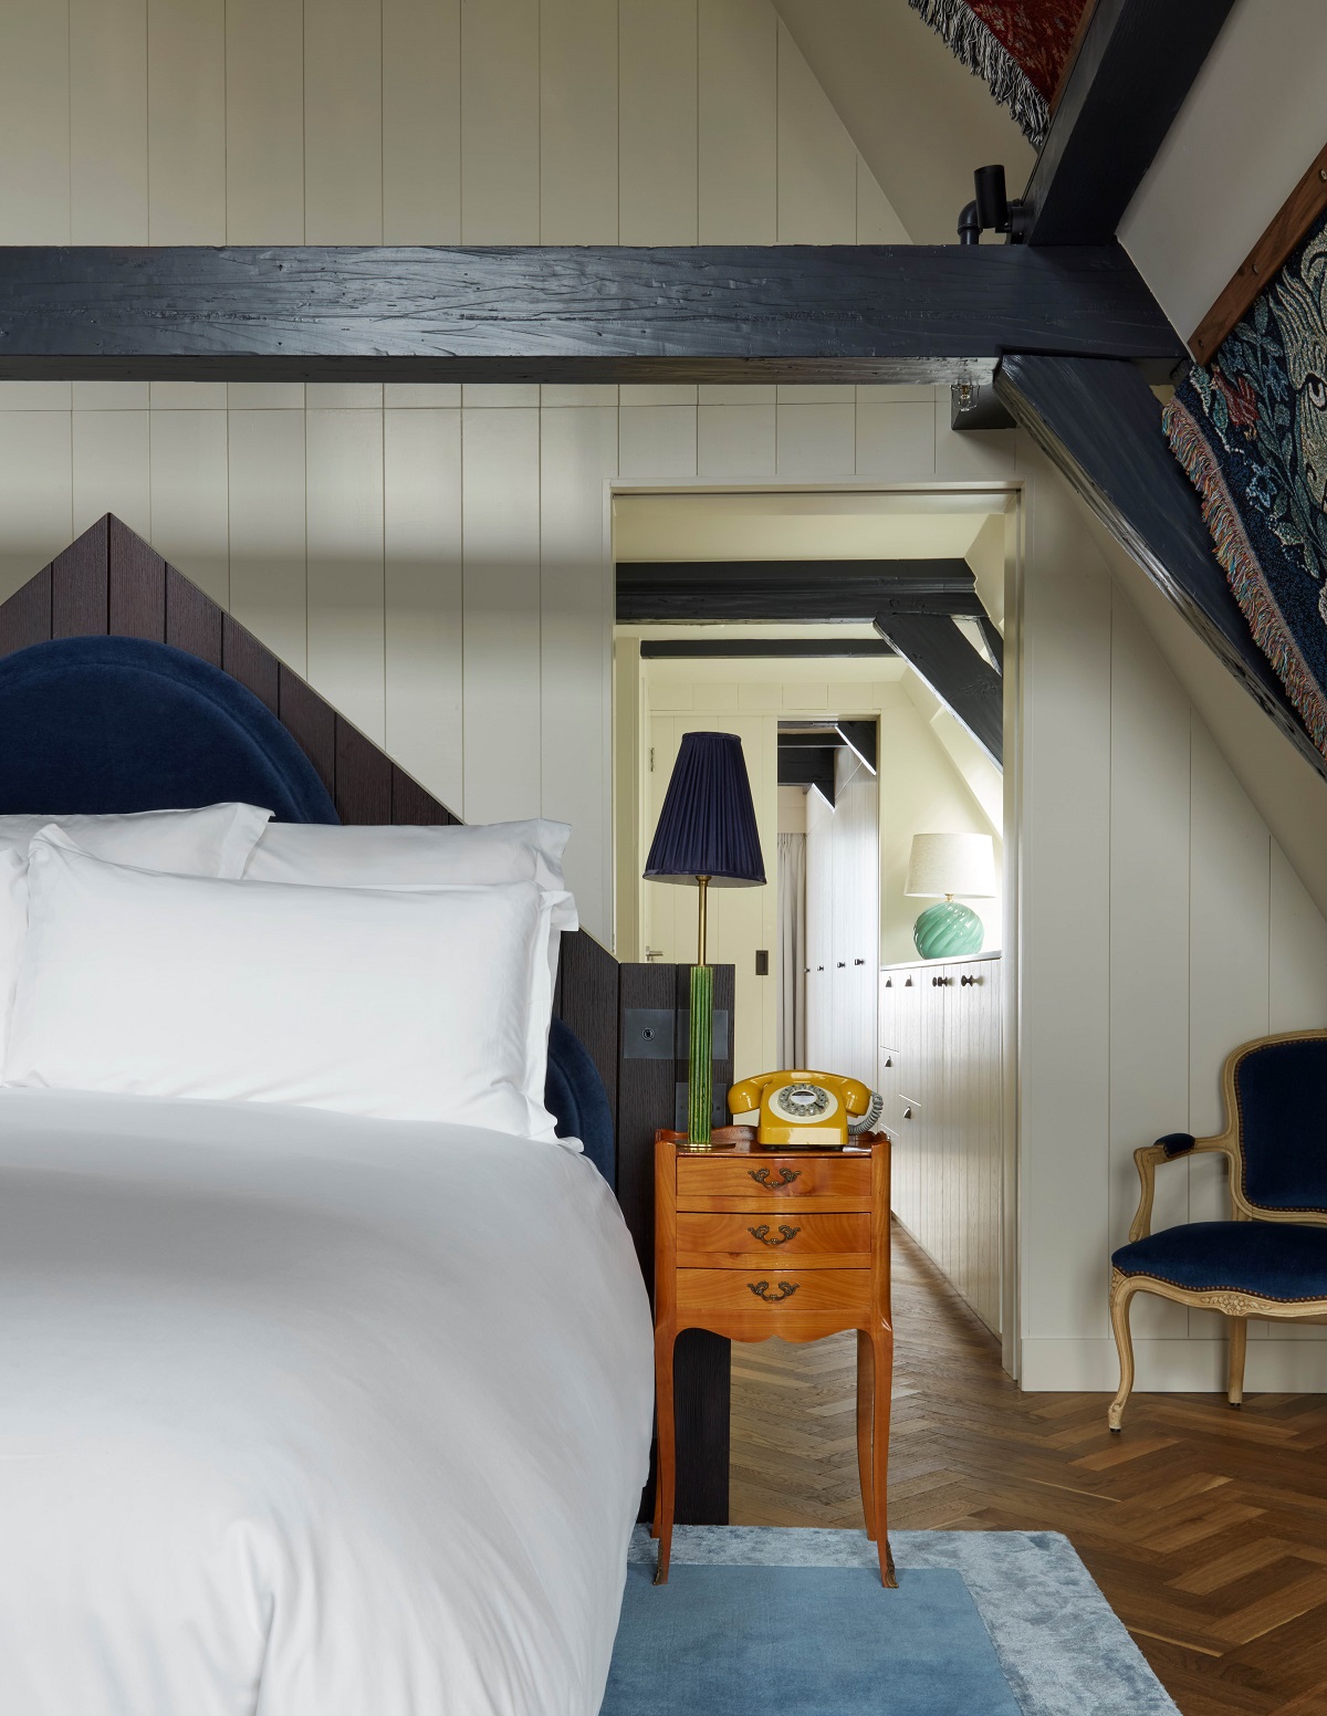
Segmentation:
{"type": "Polygon", "coordinates": [[[0,1091],[0,1711],[594,1716],[651,1393],[584,1157],[0,1091]]]}

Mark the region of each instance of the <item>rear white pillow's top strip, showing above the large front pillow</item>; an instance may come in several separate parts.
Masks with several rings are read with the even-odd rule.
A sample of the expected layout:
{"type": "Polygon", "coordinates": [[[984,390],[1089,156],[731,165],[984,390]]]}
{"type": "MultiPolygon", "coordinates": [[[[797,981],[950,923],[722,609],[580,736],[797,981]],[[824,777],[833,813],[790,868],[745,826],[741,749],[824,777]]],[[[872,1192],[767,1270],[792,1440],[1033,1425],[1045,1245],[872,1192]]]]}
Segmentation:
{"type": "MultiPolygon", "coordinates": [[[[481,882],[567,884],[565,822],[453,824],[450,827],[319,827],[275,822],[254,846],[247,882],[309,882],[319,887],[439,887],[481,882]]],[[[575,925],[572,925],[575,927],[575,925]]]]}

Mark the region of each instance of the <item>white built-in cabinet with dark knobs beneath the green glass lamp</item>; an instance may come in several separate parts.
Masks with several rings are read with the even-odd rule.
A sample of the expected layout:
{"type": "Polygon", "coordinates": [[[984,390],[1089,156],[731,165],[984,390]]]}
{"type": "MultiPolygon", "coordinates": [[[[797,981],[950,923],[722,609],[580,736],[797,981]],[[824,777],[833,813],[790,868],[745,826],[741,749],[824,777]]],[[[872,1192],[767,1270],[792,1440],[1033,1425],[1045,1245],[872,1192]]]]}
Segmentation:
{"type": "Polygon", "coordinates": [[[1001,958],[886,966],[879,985],[894,1215],[999,1333],[1001,958]]]}

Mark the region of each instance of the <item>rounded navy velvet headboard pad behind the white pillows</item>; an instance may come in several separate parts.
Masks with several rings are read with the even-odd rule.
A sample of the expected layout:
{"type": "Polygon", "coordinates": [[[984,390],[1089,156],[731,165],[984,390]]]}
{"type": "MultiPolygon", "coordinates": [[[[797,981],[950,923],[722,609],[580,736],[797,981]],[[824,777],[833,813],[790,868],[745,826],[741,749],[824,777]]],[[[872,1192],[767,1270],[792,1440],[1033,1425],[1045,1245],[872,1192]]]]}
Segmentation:
{"type": "MultiPolygon", "coordinates": [[[[338,822],[316,769],[211,662],[144,638],[76,637],[0,657],[0,815],[113,815],[240,800],[278,822],[338,822]]],[[[615,1182],[613,1115],[575,1033],[553,1019],[546,1103],[615,1182]]]]}

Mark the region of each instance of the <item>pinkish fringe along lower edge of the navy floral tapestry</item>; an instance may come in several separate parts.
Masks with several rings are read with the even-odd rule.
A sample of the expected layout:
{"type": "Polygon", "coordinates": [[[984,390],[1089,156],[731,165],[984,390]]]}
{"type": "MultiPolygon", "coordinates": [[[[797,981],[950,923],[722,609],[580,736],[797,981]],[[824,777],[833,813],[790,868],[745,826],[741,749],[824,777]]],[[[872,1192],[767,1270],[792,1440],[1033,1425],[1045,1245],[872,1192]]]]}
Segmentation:
{"type": "Polygon", "coordinates": [[[1313,743],[1327,757],[1327,700],[1267,587],[1258,556],[1245,535],[1231,491],[1207,448],[1202,429],[1178,398],[1167,402],[1160,420],[1171,451],[1202,496],[1203,523],[1212,532],[1217,561],[1241,614],[1248,619],[1253,642],[1270,661],[1313,743]]]}

